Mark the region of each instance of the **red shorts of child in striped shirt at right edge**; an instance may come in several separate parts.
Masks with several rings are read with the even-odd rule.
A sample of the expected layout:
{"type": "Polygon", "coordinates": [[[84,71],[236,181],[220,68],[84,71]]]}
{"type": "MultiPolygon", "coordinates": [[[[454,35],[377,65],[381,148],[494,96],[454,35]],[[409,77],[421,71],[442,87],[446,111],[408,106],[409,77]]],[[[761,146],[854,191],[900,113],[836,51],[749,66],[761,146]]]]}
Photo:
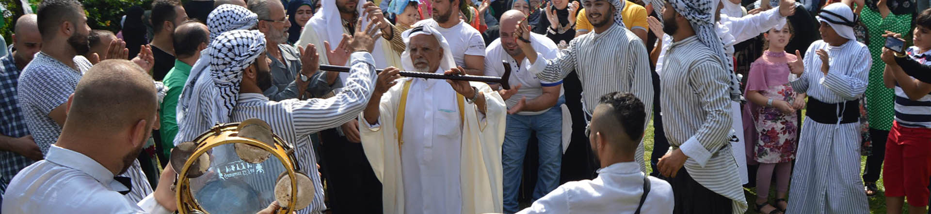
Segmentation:
{"type": "Polygon", "coordinates": [[[929,178],[931,129],[909,128],[894,122],[885,143],[885,196],[905,196],[909,206],[927,206],[929,178]]]}

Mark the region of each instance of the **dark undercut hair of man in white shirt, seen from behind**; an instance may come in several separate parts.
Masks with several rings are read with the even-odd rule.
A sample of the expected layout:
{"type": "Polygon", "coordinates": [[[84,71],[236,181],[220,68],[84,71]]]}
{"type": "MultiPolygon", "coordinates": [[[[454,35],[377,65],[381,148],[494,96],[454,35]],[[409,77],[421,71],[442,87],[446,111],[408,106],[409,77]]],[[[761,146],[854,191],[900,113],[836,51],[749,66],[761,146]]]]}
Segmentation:
{"type": "Polygon", "coordinates": [[[637,96],[614,92],[601,95],[598,103],[610,106],[614,120],[624,126],[627,137],[633,142],[640,142],[641,138],[643,138],[643,122],[646,120],[646,111],[644,111],[643,103],[637,96]]]}

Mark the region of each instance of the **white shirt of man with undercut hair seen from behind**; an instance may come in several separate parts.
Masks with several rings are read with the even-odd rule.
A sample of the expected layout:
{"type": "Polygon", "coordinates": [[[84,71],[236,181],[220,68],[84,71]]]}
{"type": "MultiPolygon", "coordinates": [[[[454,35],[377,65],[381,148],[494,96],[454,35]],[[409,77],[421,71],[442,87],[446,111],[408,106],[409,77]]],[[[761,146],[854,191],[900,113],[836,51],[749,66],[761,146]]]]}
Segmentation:
{"type": "MultiPolygon", "coordinates": [[[[633,213],[643,195],[643,172],[637,162],[615,163],[598,170],[598,178],[560,185],[518,213],[633,213]]],[[[672,186],[650,178],[641,213],[672,213],[672,186]]]]}

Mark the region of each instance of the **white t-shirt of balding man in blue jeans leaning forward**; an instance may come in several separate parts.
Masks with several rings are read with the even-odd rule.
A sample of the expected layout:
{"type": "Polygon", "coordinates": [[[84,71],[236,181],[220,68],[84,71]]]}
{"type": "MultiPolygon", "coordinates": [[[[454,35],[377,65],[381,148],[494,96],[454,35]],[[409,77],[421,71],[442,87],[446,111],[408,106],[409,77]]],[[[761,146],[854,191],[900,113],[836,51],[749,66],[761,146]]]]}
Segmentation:
{"type": "MultiPolygon", "coordinates": [[[[485,50],[485,76],[501,77],[505,75],[505,64],[502,63],[502,60],[506,60],[511,66],[510,79],[507,80],[507,83],[510,84],[511,87],[520,84],[518,93],[512,95],[505,101],[507,107],[518,105],[521,97],[526,97],[527,100],[535,99],[537,96],[543,94],[544,86],[558,86],[562,84],[562,81],[541,81],[537,79],[535,74],[528,71],[531,67],[536,67],[537,69],[546,68],[546,60],[556,58],[559,51],[559,47],[556,46],[552,40],[546,38],[545,35],[532,32],[531,36],[531,45],[533,49],[536,50],[536,55],[538,56],[536,62],[533,64],[531,64],[530,60],[526,57],[518,64],[514,57],[508,55],[505,48],[501,45],[501,38],[494,40],[492,44],[488,44],[488,49],[485,50]]],[[[562,95],[561,89],[560,95],[562,95]]],[[[544,109],[536,112],[521,111],[518,115],[540,115],[546,113],[548,110],[549,109],[544,109]]]]}

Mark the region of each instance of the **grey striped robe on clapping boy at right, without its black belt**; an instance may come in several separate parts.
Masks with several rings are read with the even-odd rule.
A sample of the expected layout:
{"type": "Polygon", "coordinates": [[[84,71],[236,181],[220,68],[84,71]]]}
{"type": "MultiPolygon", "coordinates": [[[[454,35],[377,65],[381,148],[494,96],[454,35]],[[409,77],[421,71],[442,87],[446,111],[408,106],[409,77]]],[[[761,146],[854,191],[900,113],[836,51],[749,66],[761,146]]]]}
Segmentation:
{"type": "MultiPolygon", "coordinates": [[[[866,91],[872,58],[864,44],[850,40],[830,46],[818,40],[808,47],[803,60],[804,72],[790,82],[796,92],[808,93],[825,103],[841,103],[860,98],[866,91]],[[821,59],[815,53],[818,49],[828,50],[828,75],[821,72],[821,59]]],[[[859,127],[859,122],[824,124],[805,117],[787,213],[870,211],[860,179],[859,127]]]]}

